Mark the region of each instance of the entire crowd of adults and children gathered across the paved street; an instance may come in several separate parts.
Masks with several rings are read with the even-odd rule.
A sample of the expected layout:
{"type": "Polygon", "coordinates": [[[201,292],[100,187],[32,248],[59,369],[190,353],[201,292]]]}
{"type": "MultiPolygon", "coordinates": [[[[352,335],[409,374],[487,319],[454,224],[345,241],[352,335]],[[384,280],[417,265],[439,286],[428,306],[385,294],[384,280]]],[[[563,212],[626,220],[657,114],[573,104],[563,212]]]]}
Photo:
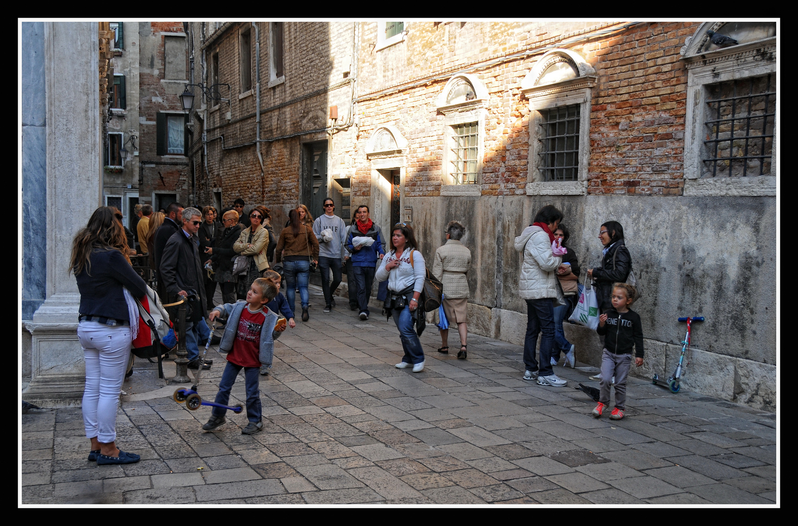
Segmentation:
{"type": "MultiPolygon", "coordinates": [[[[133,298],[147,293],[147,285],[132,267],[135,240],[148,258],[158,295],[168,303],[188,302],[184,320],[188,367],[208,369],[211,359],[199,358],[199,346],[211,337],[207,320],[227,320],[220,349],[227,351],[226,366],[216,402],[226,405],[236,376],[244,371],[247,418],[243,433],[263,428],[259,401],[259,375],[272,367],[275,338],[296,326],[296,293],[300,296],[303,322],[310,320],[310,273],[321,273],[324,312],[336,307],[335,292],[347,274],[350,308],[362,321],[369,320],[369,300],[374,281],[380,285],[383,312],[393,319],[404,351],[396,367],[424,371],[425,354],[419,336],[426,312],[421,300],[429,275],[442,284],[441,345],[448,354],[448,327],[460,338],[458,359],[468,359],[469,271],[472,254],[464,244],[466,226],[448,222],[444,243],[434,253],[432,270],[418,249],[417,233],[405,223],[393,225],[386,240],[369,217],[369,207],[358,206],[349,226],[335,214],[332,198],[323,202],[324,214],[313,219],[304,205],[288,210],[285,227],[275,236],[271,210],[237,199],[233,206],[217,212],[214,206],[184,208],[178,202],[155,212],[150,205],[136,208],[135,237],[122,225],[122,215],[113,207],[100,207],[89,224],[73,240],[70,269],[81,293],[78,337],[86,360],[84,423],[91,441],[89,460],[100,464],[127,464],[139,460],[115,446],[116,405],[128,363],[132,339],[138,331],[138,310],[133,298]],[[286,294],[280,292],[282,282],[286,294]],[[219,285],[222,304],[213,296],[219,285]],[[445,321],[445,324],[444,324],[445,321]]],[[[516,237],[522,261],[518,295],[527,304],[527,331],[523,347],[523,379],[541,386],[563,387],[567,382],[555,375],[559,363],[575,367],[575,345],[563,330],[579,301],[579,259],[568,242],[563,213],[543,206],[530,226],[516,237]],[[539,341],[538,341],[539,340],[539,341]],[[539,343],[539,349],[538,347],[539,343]]],[[[610,418],[623,418],[626,377],[632,353],[642,365],[640,316],[630,309],[637,291],[626,283],[632,261],[620,223],[609,221],[599,230],[603,245],[601,265],[587,269],[587,280],[595,286],[599,302],[599,328],[604,337],[599,404],[593,415],[601,417],[615,389],[615,407],[610,418]]],[[[428,307],[429,308],[429,307],[428,307]]],[[[226,422],[224,411],[215,408],[203,430],[214,430],[226,422]]]]}

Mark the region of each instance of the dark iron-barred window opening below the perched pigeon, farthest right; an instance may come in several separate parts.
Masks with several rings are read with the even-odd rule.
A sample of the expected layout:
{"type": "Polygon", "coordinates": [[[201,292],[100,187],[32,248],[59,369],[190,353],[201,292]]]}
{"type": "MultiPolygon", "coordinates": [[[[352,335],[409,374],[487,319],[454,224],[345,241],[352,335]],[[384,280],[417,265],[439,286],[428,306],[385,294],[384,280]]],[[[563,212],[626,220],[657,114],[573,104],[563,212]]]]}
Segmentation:
{"type": "Polygon", "coordinates": [[[702,177],[771,175],[774,75],[707,86],[702,177]]]}

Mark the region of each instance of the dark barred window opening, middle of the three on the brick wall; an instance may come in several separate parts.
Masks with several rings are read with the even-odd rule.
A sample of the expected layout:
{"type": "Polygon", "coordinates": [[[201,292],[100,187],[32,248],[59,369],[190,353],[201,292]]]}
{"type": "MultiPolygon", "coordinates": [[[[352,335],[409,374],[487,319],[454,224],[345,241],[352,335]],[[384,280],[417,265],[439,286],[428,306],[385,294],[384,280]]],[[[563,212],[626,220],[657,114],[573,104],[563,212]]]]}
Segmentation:
{"type": "Polygon", "coordinates": [[[541,113],[539,171],[544,181],[579,180],[579,104],[541,113]]]}

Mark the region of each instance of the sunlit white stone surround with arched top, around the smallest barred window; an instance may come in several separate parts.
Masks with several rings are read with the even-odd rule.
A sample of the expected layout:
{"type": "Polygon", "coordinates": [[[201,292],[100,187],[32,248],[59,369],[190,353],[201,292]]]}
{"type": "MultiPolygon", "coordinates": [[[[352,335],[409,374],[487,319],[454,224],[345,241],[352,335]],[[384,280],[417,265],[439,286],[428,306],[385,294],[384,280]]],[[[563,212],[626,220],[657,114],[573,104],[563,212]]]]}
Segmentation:
{"type": "Polygon", "coordinates": [[[480,77],[471,73],[456,73],[446,82],[437,98],[436,109],[443,114],[443,155],[440,169],[440,195],[482,195],[482,169],[485,157],[485,118],[488,116],[488,88],[480,77]],[[460,80],[465,80],[474,91],[474,99],[450,104],[448,93],[460,80]],[[476,183],[458,184],[452,176],[454,153],[452,144],[456,136],[455,127],[459,124],[476,123],[476,183]]]}

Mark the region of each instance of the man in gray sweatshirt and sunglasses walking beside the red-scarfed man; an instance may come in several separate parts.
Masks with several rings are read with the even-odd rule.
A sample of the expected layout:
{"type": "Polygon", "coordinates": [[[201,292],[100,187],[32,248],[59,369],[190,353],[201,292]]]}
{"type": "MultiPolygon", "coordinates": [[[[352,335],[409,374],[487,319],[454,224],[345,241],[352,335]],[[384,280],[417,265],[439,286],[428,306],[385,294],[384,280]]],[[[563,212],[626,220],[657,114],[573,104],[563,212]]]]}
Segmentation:
{"type": "Polygon", "coordinates": [[[341,262],[346,255],[346,223],[333,214],[335,203],[332,198],[324,200],[324,214],[313,222],[313,233],[318,238],[318,269],[322,273],[322,292],[324,292],[324,312],[330,312],[335,306],[333,294],[341,285],[341,262]],[[324,233],[324,230],[330,232],[324,233]],[[323,233],[323,234],[322,234],[323,233]],[[330,270],[333,271],[333,282],[330,283],[330,270]]]}

